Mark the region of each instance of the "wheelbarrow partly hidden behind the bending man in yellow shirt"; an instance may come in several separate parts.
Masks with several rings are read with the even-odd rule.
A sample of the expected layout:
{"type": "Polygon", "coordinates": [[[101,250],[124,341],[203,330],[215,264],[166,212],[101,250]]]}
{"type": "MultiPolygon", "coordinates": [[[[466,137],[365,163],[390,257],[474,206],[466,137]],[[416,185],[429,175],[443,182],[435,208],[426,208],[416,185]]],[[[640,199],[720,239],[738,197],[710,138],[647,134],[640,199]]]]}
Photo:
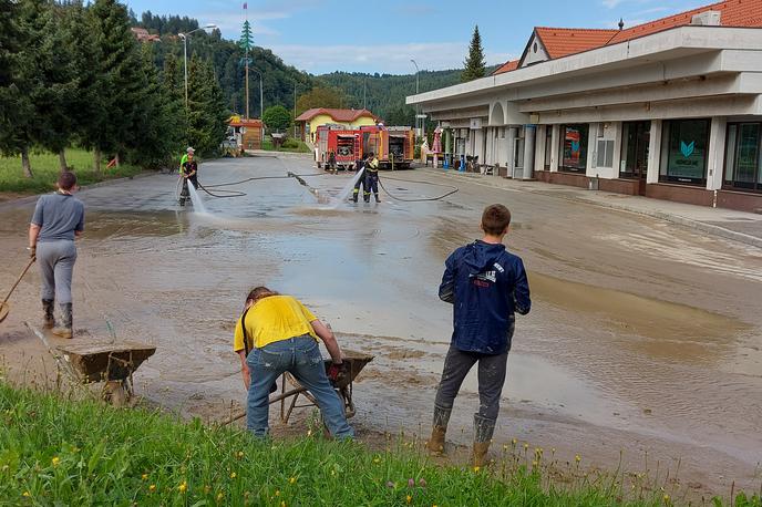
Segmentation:
{"type": "MultiPolygon", "coordinates": [[[[358,352],[344,351],[343,362],[347,364],[344,371],[337,376],[336,380],[330,380],[331,385],[341,399],[344,405],[344,413],[347,417],[352,417],[357,413],[354,408],[354,401],[352,400],[352,382],[358,374],[365,368],[365,364],[373,360],[372,355],[361,354],[358,352]]],[[[330,359],[323,360],[326,373],[332,364],[330,359]]],[[[299,381],[289,372],[280,376],[280,393],[270,397],[270,405],[280,403],[280,421],[288,423],[291,413],[295,408],[318,406],[318,401],[312,396],[307,387],[301,385],[299,381]],[[300,396],[303,396],[309,403],[298,404],[300,396]]],[[[230,424],[246,416],[246,411],[243,411],[227,421],[223,425],[230,424]]]]}

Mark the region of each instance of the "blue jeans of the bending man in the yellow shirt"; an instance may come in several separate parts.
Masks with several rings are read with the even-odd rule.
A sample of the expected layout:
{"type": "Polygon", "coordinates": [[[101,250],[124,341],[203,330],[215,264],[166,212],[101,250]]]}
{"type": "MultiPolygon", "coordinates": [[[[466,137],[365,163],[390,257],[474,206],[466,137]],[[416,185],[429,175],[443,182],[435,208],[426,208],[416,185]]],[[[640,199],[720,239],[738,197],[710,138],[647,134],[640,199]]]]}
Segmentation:
{"type": "Polygon", "coordinates": [[[246,358],[246,364],[251,374],[246,427],[255,436],[267,435],[270,386],[284,372],[289,372],[318,401],[331,435],[354,437],[354,430],[347,423],[344,404],[328,381],[320,348],[312,337],[306,334],[255,348],[246,358]]]}

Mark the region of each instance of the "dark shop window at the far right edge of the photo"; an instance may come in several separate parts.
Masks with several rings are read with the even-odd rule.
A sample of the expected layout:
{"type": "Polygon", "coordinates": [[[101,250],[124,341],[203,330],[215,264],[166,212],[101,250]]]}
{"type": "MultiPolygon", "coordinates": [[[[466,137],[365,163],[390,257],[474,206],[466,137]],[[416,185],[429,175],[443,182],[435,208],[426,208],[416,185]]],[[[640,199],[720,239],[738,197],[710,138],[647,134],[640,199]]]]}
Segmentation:
{"type": "Polygon", "coordinates": [[[724,186],[762,192],[762,124],[729,123],[724,186]]]}

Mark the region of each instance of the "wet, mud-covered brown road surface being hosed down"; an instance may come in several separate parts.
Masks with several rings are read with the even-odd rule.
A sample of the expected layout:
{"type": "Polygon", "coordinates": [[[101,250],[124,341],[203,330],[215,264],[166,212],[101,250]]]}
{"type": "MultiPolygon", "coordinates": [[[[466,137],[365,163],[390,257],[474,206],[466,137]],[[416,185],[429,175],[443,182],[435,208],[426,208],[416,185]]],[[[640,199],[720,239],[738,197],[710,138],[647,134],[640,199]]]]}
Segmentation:
{"type": "MultiPolygon", "coordinates": [[[[289,170],[316,173],[306,158],[255,157],[205,163],[199,179],[289,170]]],[[[759,489],[759,249],[525,192],[521,183],[382,173],[385,188],[404,199],[449,189],[426,183],[460,192],[420,203],[382,192],[379,205],[331,205],[350,176],[303,179],[317,192],[284,178],[225,187],[244,197],[203,195],[207,214],[177,206],[171,175],[81,193],[87,230],[75,268],[75,329],[104,338],[109,322],[119,339],[155,343],[136,375],[138,392],[223,420],[245,397],[233,324],[248,289],[267,284],[305,301],[344,348],[375,355],[354,390],[361,436],[425,434],[451,332],[451,308],[436,297],[443,261],[480,237],[485,205],[503,203],[514,217],[506,242],[531,271],[534,306],[517,321],[496,443],[515,437],[605,468],[616,468],[620,451],[634,470],[657,462],[676,469],[679,461],[681,483],[701,495],[727,494],[732,482],[759,489]]],[[[0,287],[23,267],[32,208],[0,207],[0,287]]],[[[38,319],[31,275],[0,329],[16,377],[32,377],[44,356],[22,325],[38,319]]],[[[451,442],[470,442],[475,387],[474,374],[456,401],[451,442]]]]}

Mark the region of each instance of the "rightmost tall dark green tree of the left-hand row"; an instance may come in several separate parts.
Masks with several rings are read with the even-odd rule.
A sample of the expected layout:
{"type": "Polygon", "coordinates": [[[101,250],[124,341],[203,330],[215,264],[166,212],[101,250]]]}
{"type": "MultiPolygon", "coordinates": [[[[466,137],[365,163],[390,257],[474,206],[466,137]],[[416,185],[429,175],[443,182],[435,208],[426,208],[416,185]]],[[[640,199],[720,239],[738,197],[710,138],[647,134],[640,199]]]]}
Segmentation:
{"type": "Polygon", "coordinates": [[[188,144],[203,156],[218,153],[228,117],[212,62],[194,54],[188,65],[188,144]]]}

